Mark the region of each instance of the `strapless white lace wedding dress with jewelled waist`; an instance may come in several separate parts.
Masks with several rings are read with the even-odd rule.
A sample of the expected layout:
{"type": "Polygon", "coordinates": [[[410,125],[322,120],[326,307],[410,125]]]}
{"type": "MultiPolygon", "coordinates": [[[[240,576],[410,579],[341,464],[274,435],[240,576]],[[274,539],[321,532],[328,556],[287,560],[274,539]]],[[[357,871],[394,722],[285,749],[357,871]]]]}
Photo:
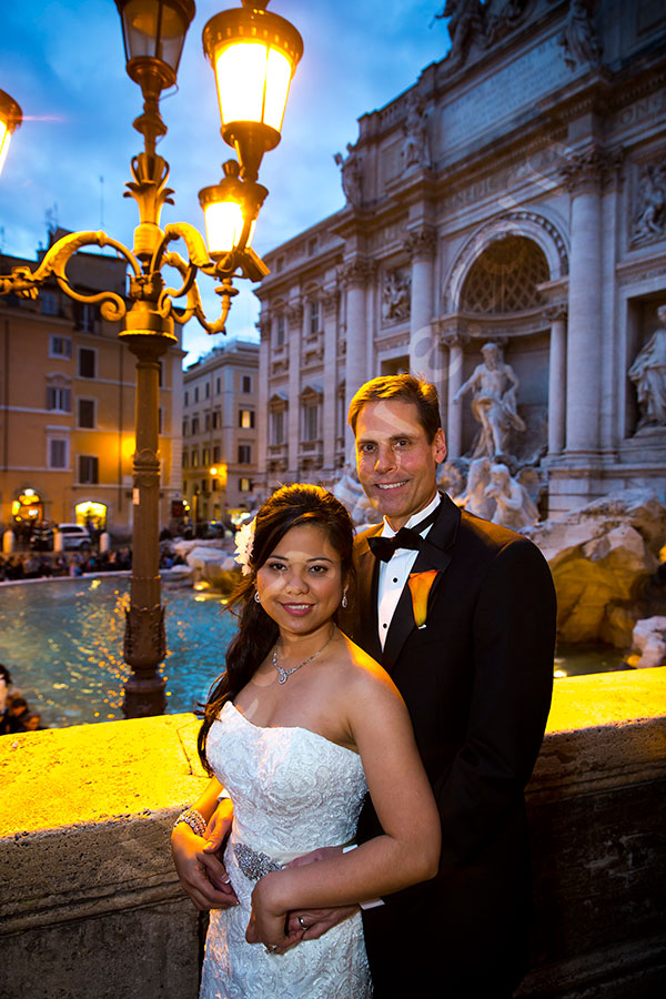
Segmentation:
{"type": "Polygon", "coordinates": [[[230,702],[206,751],[233,799],[224,862],[240,905],[211,911],[200,999],[370,999],[360,914],[284,955],[245,941],[259,877],[354,838],[367,790],[361,757],[306,728],[260,728],[230,702]]]}

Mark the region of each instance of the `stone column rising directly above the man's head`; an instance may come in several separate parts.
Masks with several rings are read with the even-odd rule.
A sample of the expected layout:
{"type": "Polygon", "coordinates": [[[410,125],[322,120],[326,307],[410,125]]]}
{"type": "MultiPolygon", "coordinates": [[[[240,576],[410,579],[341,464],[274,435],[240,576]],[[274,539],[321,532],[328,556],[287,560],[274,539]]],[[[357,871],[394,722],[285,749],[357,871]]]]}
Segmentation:
{"type": "Polygon", "coordinates": [[[437,384],[441,379],[440,344],[433,339],[433,263],[437,240],[430,226],[413,230],[407,235],[407,252],[412,261],[412,292],[410,309],[410,371],[437,384]]]}

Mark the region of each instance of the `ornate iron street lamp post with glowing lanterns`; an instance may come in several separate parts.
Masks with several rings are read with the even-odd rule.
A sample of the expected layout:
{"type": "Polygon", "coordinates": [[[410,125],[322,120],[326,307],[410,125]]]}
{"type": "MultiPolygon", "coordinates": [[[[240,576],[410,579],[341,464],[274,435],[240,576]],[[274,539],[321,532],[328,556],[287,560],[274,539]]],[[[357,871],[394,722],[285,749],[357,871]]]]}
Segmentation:
{"type": "MultiPolygon", "coordinates": [[[[9,276],[0,276],[0,294],[36,297],[40,285],[53,275],[70,297],[99,303],[104,319],[122,320],[119,335],[137,357],[133,555],[124,638],[124,658],[132,667],[132,675],[125,684],[123,703],[125,716],[134,718],[161,714],[165,706],[165,679],[158,674],[167,653],[159,574],[160,357],[176,342],[174,323],[183,324],[195,317],[209,333],[224,332],[231,299],[236,294],[233,278],[259,281],[268,273],[250,246],[254,222],[268,194],[258,183],[259,167],[264,152],[280,141],[289,84],[303,42],[289,21],[266,10],[268,0],[243,0],[242,8],[216,14],[203,30],[204,49],[215,69],[222,137],[239,158],[238,162],[230,160],[224,164],[219,184],[200,193],[206,248],[199,232],[188,223],[160,228],[162,206],[173,203],[173,191],[167,186],[169,164],[155,152],[157,140],[167,132],[160,115],[160,95],[175,83],[184,38],[194,17],[194,2],[115,0],[115,4],[122,20],[127,71],[139,83],[143,95],[143,112],[135,119],[134,128],[143,135],[144,150],[132,159],[133,180],[127,184],[125,192],[139,205],[134,245],[130,250],[104,232],[68,234],[49,249],[34,271],[19,266],[9,276]],[[186,260],[170,249],[178,240],[185,244],[186,260]],[[125,300],[113,292],[83,295],[72,287],[67,264],[87,245],[111,246],[127,260],[129,309],[125,300]],[[165,286],[164,266],[180,273],[180,287],[165,286]],[[215,291],[222,309],[213,323],[206,320],[201,306],[199,271],[220,282],[215,291]],[[181,297],[185,299],[185,305],[178,309],[174,300],[181,297]]],[[[6,102],[9,134],[20,123],[21,114],[18,104],[0,92],[0,121],[6,121],[2,118],[6,102]]]]}

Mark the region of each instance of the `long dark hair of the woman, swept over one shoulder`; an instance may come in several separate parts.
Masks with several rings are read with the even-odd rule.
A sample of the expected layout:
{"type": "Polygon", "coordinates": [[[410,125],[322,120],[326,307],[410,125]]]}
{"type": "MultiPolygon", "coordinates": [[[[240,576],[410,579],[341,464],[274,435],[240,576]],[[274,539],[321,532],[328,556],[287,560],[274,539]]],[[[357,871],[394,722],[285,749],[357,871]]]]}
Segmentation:
{"type": "Polygon", "coordinates": [[[248,684],[278,640],[279,629],[261,604],[254,599],[256,573],[292,527],[303,524],[321,527],[340,557],[344,585],[354,578],[352,519],[332,493],[321,486],[296,483],[282,486],[266,500],[254,521],[254,541],[244,575],[226,605],[239,618],[239,630],[226,650],[226,672],[216,680],[203,707],[198,748],[201,761],[212,774],[205,755],[209,729],[226,700],[248,684]]]}

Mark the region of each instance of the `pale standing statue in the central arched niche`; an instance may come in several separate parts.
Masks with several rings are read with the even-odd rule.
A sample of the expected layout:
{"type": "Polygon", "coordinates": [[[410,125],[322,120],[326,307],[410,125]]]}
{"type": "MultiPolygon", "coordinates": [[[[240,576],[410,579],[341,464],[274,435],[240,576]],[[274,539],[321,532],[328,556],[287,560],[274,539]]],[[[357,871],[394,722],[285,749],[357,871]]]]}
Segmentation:
{"type": "Polygon", "coordinates": [[[481,423],[481,436],[473,457],[506,454],[506,441],[512,430],[524,431],[525,424],[516,412],[518,380],[511,364],[505,364],[496,343],[481,349],[483,364],[474,369],[472,377],[461,385],[453,397],[460,403],[463,395],[473,391],[472,413],[481,423]]]}

